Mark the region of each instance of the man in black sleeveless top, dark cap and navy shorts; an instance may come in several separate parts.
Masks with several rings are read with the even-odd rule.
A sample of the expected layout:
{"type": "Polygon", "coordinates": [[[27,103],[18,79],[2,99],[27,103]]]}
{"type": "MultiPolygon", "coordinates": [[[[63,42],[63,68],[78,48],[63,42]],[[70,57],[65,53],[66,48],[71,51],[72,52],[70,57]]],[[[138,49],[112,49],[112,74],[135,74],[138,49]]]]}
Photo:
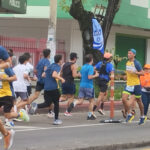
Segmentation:
{"type": "MultiPolygon", "coordinates": [[[[65,79],[65,83],[62,83],[62,95],[60,97],[60,102],[66,101],[67,108],[74,101],[74,94],[76,92],[76,87],[74,83],[74,78],[81,77],[81,74],[77,72],[78,66],[76,61],[78,59],[77,53],[70,54],[70,61],[66,62],[61,70],[61,76],[65,79]]],[[[64,113],[65,116],[71,116],[69,112],[64,113]]]]}

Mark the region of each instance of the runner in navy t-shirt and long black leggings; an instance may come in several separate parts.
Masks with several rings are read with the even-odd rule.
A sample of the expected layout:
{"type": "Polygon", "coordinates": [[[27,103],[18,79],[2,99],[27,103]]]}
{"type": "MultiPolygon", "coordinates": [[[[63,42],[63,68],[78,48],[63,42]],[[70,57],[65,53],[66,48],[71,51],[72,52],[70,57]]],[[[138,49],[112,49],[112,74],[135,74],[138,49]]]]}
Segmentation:
{"type": "Polygon", "coordinates": [[[55,63],[51,64],[46,70],[46,77],[44,83],[44,99],[45,102],[41,104],[33,103],[31,109],[36,110],[37,108],[45,108],[51,106],[54,103],[54,113],[55,120],[53,122],[54,125],[62,124],[62,121],[59,119],[59,97],[60,93],[58,90],[58,83],[56,79],[61,80],[62,83],[65,80],[60,77],[59,72],[61,70],[62,65],[62,56],[56,55],[54,57],[55,63]]]}

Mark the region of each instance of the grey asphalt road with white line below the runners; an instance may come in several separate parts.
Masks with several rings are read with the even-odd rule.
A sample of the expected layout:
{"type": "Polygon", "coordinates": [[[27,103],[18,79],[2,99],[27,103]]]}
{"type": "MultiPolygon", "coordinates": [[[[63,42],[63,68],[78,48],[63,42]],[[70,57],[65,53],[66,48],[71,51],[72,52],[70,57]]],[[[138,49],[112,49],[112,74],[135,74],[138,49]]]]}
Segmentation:
{"type": "MultiPolygon", "coordinates": [[[[86,120],[87,113],[73,113],[72,117],[60,114],[63,124],[52,125],[53,118],[46,114],[31,116],[29,123],[17,122],[12,150],[121,150],[137,146],[150,146],[150,121],[138,125],[138,118],[132,123],[99,123],[108,119],[97,114],[94,121],[86,120]]],[[[120,111],[116,119],[122,119],[120,111]]],[[[0,140],[0,150],[3,150],[0,140]]],[[[135,148],[137,149],[137,148],[135,148]]],[[[143,149],[146,150],[146,149],[143,149]]]]}

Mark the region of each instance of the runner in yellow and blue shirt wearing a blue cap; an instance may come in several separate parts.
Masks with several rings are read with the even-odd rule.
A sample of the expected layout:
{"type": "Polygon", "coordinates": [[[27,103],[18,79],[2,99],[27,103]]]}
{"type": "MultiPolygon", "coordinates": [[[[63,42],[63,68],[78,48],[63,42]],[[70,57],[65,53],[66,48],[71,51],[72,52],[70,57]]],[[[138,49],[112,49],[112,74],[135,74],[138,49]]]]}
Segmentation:
{"type": "Polygon", "coordinates": [[[126,63],[127,84],[123,91],[122,102],[128,113],[126,122],[131,122],[134,119],[134,115],[130,111],[131,102],[128,101],[128,97],[129,95],[135,95],[135,100],[137,101],[141,112],[141,117],[138,124],[141,125],[146,120],[146,117],[144,116],[143,103],[141,101],[141,85],[139,79],[139,76],[143,75],[143,70],[141,64],[135,59],[135,56],[136,50],[130,49],[128,51],[128,62],[126,63]]]}

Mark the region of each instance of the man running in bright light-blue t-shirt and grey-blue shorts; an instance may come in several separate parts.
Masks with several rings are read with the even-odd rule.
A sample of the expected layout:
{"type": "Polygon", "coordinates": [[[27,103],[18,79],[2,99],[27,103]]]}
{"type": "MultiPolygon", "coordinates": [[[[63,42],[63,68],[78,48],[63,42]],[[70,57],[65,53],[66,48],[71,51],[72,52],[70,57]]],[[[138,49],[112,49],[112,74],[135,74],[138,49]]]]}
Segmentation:
{"type": "Polygon", "coordinates": [[[95,120],[96,116],[93,113],[93,106],[94,106],[94,86],[93,86],[93,79],[99,76],[99,73],[95,71],[94,74],[94,67],[93,64],[93,56],[88,54],[85,56],[85,64],[81,68],[81,81],[80,81],[80,89],[78,100],[74,101],[70,104],[67,109],[67,112],[71,112],[74,107],[77,105],[81,105],[84,99],[89,100],[89,112],[87,120],[95,120]]]}

